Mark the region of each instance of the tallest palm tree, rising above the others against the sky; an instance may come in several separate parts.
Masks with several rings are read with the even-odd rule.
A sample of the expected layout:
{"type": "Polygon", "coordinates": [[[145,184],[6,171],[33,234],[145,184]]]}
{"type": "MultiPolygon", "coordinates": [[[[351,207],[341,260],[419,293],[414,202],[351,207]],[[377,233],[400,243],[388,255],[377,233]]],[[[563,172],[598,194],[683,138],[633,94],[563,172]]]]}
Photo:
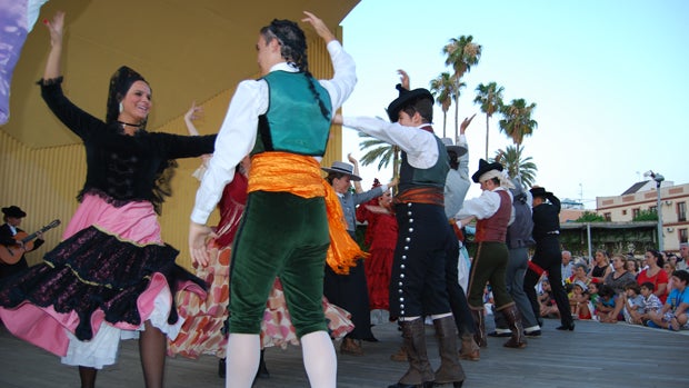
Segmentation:
{"type": "MultiPolygon", "coordinates": [[[[457,96],[459,98],[459,89],[461,88],[461,78],[471,70],[471,67],[479,62],[481,58],[481,46],[473,42],[472,36],[461,36],[452,38],[442,48],[442,53],[447,56],[445,64],[452,67],[455,73],[452,79],[457,86],[457,96]]],[[[457,99],[455,100],[457,101],[457,99]]],[[[459,106],[455,105],[455,138],[459,135],[459,106]]]]}

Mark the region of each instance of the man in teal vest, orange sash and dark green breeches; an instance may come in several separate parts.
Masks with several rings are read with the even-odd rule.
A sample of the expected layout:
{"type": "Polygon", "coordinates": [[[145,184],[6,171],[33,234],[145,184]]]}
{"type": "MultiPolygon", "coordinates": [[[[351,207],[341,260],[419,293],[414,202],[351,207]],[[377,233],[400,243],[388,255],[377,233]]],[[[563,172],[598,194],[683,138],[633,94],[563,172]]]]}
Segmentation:
{"type": "Polygon", "coordinates": [[[334,77],[317,81],[309,73],[306,37],[296,22],[273,20],[263,27],[256,46],[262,78],[239,83],[191,215],[192,259],[207,266],[204,240],[211,230],[204,223],[234,167],[251,153],[249,197],[232,252],[228,387],[251,386],[260,359],[261,317],[276,276],[311,387],[337,385],[337,359],[321,306],[323,261],[346,272],[363,252],[347,233],[319,160],[332,113],[357,77],[353,60],[323,21],[304,14],[302,21],[327,43],[334,77]],[[328,256],[329,247],[344,255],[328,256]]]}

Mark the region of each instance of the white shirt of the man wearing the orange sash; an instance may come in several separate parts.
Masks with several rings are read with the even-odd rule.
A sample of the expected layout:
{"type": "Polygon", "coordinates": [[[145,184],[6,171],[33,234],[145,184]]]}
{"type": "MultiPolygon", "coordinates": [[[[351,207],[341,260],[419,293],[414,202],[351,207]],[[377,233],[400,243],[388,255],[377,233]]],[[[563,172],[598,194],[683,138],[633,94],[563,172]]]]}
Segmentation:
{"type": "MultiPolygon", "coordinates": [[[[319,83],[330,94],[334,112],[353,91],[357,72],[353,59],[342,49],[340,42],[333,40],[328,43],[328,52],[334,76],[330,80],[319,80],[319,83]]],[[[271,72],[276,70],[298,71],[287,62],[278,63],[270,69],[271,72]]],[[[206,223],[208,220],[220,200],[224,186],[232,181],[234,168],[253,149],[259,116],[266,113],[268,107],[269,90],[264,80],[246,80],[239,83],[218,132],[213,157],[197,191],[196,203],[191,211],[193,222],[206,223]]]]}

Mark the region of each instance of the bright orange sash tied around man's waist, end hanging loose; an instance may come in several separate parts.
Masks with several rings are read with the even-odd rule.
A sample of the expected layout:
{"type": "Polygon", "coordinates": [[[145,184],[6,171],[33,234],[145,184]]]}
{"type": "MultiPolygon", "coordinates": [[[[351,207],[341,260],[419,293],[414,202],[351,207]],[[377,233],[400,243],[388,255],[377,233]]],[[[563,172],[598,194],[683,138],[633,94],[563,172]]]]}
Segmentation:
{"type": "Polygon", "coordinates": [[[249,192],[290,192],[301,198],[324,197],[330,233],[326,262],[336,273],[347,275],[357,258],[368,257],[349,236],[337,193],[321,177],[313,157],[289,152],[262,152],[251,157],[249,192]]]}

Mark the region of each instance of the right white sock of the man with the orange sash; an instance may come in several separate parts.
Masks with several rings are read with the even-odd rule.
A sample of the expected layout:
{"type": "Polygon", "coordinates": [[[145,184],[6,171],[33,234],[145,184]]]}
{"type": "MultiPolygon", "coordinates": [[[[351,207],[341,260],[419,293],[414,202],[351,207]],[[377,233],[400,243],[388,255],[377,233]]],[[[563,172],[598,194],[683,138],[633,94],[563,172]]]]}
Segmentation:
{"type": "Polygon", "coordinates": [[[300,340],[303,366],[307,369],[311,388],[336,388],[338,359],[328,332],[309,332],[300,340]]]}

